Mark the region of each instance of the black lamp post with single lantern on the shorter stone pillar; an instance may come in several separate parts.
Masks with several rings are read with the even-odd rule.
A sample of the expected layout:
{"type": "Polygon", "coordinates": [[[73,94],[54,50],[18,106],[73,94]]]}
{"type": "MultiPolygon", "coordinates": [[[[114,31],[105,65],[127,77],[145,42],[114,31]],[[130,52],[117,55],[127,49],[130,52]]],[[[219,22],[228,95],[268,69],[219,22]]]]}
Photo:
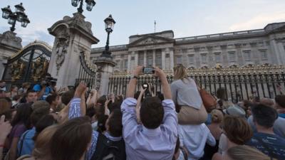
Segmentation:
{"type": "Polygon", "coordinates": [[[113,32],[115,20],[112,18],[112,15],[110,15],[107,18],[105,18],[104,22],[105,22],[105,31],[108,33],[108,37],[107,37],[105,50],[103,51],[103,54],[101,56],[106,57],[106,58],[112,58],[110,50],[109,50],[109,37],[110,37],[110,33],[113,32]]]}

